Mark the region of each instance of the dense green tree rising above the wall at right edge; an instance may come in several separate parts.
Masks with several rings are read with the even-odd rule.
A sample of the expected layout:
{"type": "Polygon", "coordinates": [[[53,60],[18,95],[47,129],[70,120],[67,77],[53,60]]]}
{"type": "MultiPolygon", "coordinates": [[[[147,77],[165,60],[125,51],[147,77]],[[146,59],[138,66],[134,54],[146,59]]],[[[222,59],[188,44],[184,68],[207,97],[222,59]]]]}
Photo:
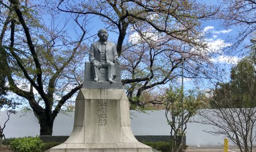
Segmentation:
{"type": "Polygon", "coordinates": [[[218,83],[210,102],[212,108],[254,107],[256,105],[255,52],[231,69],[230,82],[218,83]]]}

